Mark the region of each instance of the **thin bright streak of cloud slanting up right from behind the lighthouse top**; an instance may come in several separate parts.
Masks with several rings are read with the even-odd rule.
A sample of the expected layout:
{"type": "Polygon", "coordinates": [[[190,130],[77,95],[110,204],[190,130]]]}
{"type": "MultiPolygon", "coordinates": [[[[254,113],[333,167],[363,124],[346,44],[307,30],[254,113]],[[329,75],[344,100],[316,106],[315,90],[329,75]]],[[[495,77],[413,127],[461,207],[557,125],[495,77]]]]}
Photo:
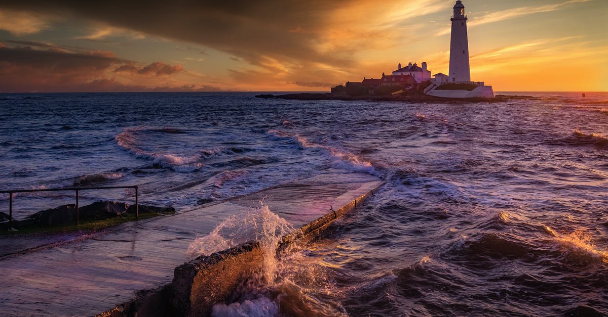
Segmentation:
{"type": "MultiPolygon", "coordinates": [[[[499,21],[503,21],[506,19],[517,18],[518,16],[532,15],[534,13],[551,12],[551,11],[562,9],[562,7],[565,7],[568,4],[573,4],[573,3],[577,3],[577,2],[589,2],[589,1],[595,1],[595,0],[570,0],[570,1],[565,1],[565,2],[559,3],[559,4],[539,5],[536,7],[528,6],[528,7],[511,8],[509,10],[492,12],[492,13],[488,13],[487,15],[480,16],[479,18],[471,19],[468,22],[467,26],[476,27],[476,26],[482,26],[483,24],[494,23],[494,22],[499,22],[499,21]]],[[[445,27],[445,28],[441,29],[439,32],[437,32],[436,35],[437,36],[446,35],[446,34],[449,34],[450,32],[451,32],[450,27],[445,27]]]]}

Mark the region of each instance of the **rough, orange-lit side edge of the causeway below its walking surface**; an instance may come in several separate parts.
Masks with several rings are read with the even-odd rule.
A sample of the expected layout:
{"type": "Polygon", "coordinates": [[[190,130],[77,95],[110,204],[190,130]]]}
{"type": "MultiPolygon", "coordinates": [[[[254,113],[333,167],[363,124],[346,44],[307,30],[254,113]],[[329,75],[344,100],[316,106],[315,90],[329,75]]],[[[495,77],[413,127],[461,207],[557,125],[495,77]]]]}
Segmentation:
{"type": "MultiPolygon", "coordinates": [[[[288,252],[297,243],[319,236],[331,223],[360,206],[384,184],[379,182],[375,188],[339,209],[330,209],[325,216],[283,236],[277,247],[277,256],[288,252]]],[[[97,316],[207,316],[213,305],[225,302],[239,285],[259,271],[262,262],[263,251],[257,241],[199,256],[176,267],[171,284],[156,290],[140,291],[131,301],[97,316]]]]}

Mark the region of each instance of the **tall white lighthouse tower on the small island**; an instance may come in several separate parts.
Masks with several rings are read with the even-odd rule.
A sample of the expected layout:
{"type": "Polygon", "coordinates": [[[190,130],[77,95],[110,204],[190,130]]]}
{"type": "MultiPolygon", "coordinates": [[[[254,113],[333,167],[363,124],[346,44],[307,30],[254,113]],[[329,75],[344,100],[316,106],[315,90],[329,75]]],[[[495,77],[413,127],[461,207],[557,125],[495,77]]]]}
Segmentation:
{"type": "Polygon", "coordinates": [[[452,38],[450,40],[449,81],[471,81],[469,68],[469,41],[466,35],[465,6],[456,1],[452,21],[452,38]]]}

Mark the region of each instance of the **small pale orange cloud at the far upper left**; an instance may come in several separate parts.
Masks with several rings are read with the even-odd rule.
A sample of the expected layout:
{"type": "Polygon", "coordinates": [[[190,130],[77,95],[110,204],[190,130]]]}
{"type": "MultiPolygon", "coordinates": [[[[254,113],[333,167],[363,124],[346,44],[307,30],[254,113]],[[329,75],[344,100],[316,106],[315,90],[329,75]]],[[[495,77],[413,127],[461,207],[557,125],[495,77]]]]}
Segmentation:
{"type": "Polygon", "coordinates": [[[50,22],[56,19],[35,12],[2,9],[0,10],[0,29],[7,30],[14,35],[38,33],[48,29],[50,22]]]}

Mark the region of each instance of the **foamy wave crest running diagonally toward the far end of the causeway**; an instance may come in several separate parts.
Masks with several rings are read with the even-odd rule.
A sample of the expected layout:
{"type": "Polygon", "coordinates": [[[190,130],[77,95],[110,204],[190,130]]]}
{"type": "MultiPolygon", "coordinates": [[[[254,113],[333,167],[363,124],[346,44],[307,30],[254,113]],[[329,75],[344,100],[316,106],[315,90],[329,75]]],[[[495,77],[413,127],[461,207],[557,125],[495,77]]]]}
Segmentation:
{"type": "Polygon", "coordinates": [[[368,172],[369,174],[379,176],[370,162],[362,161],[357,155],[348,151],[340,151],[330,146],[319,145],[302,137],[299,134],[287,134],[278,130],[268,130],[266,134],[271,135],[279,140],[291,140],[297,149],[310,149],[313,151],[322,151],[331,161],[330,165],[333,168],[346,169],[347,171],[368,172]]]}

